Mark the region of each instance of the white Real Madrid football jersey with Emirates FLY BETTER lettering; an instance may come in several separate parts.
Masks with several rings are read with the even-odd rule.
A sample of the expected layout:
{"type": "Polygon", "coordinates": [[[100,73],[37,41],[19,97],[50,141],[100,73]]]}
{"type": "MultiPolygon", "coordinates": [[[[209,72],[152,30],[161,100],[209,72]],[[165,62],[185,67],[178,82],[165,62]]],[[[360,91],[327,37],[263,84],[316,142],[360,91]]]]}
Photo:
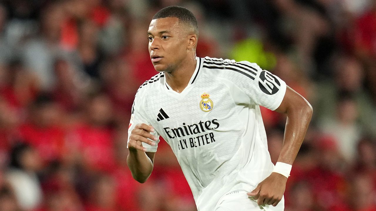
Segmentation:
{"type": "MultiPolygon", "coordinates": [[[[155,128],[171,146],[199,211],[213,211],[233,191],[252,191],[273,170],[259,105],[275,110],[286,83],[255,63],[197,57],[188,86],[175,92],[159,72],[135,96],[136,124],[155,128]]],[[[128,137],[129,140],[129,137],[128,137]]],[[[158,142],[157,142],[158,143],[158,142]]],[[[143,143],[148,152],[156,146],[143,143]]],[[[283,210],[284,200],[266,210],[283,210]]]]}

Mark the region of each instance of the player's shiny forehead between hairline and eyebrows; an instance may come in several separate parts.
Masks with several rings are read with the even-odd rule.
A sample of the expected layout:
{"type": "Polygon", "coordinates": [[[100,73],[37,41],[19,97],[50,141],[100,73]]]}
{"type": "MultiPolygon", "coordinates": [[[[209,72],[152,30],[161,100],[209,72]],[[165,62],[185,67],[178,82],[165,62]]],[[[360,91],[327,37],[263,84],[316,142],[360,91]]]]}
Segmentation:
{"type": "Polygon", "coordinates": [[[167,17],[167,18],[157,18],[150,22],[149,30],[150,33],[158,33],[162,31],[176,32],[180,30],[179,18],[167,17]]]}

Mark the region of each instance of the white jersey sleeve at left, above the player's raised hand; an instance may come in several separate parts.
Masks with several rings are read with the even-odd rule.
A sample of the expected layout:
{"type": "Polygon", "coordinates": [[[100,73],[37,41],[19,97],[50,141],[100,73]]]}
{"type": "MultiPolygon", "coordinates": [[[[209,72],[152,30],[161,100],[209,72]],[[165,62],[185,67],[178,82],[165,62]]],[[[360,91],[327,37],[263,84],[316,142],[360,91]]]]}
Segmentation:
{"type": "MultiPolygon", "coordinates": [[[[133,101],[132,105],[132,115],[130,116],[130,121],[129,121],[129,128],[128,128],[128,142],[129,142],[129,137],[132,132],[132,130],[136,127],[137,124],[147,124],[151,125],[150,121],[147,120],[147,115],[145,112],[146,109],[146,103],[143,103],[144,99],[142,98],[142,95],[138,96],[139,94],[136,94],[135,100],[133,101]]],[[[153,136],[156,136],[158,140],[155,142],[155,146],[151,146],[147,143],[142,143],[143,147],[146,148],[146,152],[156,152],[158,148],[158,143],[159,143],[159,134],[154,131],[151,133],[153,136]]],[[[150,140],[150,139],[149,139],[150,140]]],[[[154,142],[154,141],[153,141],[154,142]]],[[[128,146],[127,146],[128,148],[128,146]]]]}

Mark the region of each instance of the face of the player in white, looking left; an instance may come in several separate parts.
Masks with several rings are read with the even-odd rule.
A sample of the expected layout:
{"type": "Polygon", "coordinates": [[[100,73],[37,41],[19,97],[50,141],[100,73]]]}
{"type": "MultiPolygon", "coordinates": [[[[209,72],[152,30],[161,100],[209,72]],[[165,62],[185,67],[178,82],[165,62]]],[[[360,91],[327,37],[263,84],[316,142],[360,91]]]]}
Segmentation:
{"type": "Polygon", "coordinates": [[[149,54],[156,71],[171,72],[186,57],[189,37],[178,18],[152,20],[148,36],[149,54]]]}

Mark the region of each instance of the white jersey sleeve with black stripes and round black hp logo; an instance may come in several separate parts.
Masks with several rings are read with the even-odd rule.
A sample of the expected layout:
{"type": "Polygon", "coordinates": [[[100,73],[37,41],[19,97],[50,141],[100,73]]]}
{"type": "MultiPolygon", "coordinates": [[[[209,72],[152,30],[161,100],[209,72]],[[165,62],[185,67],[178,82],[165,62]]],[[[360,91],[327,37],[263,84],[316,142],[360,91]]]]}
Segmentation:
{"type": "Polygon", "coordinates": [[[228,79],[250,98],[250,104],[261,105],[270,110],[279,107],[286,93],[285,81],[261,69],[256,63],[233,60],[229,63],[234,71],[228,71],[228,79]]]}

